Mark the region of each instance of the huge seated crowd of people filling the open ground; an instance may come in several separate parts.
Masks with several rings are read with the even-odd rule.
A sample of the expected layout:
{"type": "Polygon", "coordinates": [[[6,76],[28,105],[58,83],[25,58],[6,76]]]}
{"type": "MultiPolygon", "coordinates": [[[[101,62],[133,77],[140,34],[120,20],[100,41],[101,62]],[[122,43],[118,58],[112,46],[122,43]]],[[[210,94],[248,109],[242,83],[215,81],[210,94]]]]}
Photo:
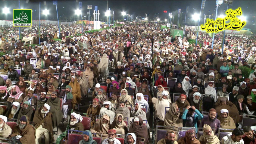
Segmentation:
{"type": "Polygon", "coordinates": [[[67,144],[72,130],[82,135],[79,144],[96,144],[94,136],[102,144],[149,144],[152,137],[157,144],[256,143],[243,124],[244,114],[256,115],[255,36],[225,35],[222,48],[216,34],[212,49],[207,33],[196,45],[189,43],[195,31],[175,36],[155,23],[40,29],[22,28],[20,38],[17,28],[0,28],[0,138],[67,144]],[[88,100],[81,111],[91,120],[84,123],[78,109],[88,100]],[[66,131],[54,140],[64,121],[66,131]],[[169,129],[158,141],[156,126],[169,129]],[[179,135],[184,127],[191,129],[179,135]],[[221,128],[230,129],[224,138],[221,128]]]}

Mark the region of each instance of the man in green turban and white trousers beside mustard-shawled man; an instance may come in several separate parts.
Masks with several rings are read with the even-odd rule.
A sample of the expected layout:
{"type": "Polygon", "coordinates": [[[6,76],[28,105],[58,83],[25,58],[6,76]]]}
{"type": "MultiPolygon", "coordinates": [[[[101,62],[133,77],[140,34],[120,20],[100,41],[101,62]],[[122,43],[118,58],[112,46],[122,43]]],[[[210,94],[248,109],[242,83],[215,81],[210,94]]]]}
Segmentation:
{"type": "Polygon", "coordinates": [[[65,94],[63,96],[63,101],[62,101],[62,110],[63,110],[63,116],[64,116],[64,120],[67,121],[68,120],[68,109],[71,109],[71,102],[73,99],[73,95],[70,92],[71,91],[71,87],[69,85],[66,86],[66,90],[65,90],[65,94]]]}

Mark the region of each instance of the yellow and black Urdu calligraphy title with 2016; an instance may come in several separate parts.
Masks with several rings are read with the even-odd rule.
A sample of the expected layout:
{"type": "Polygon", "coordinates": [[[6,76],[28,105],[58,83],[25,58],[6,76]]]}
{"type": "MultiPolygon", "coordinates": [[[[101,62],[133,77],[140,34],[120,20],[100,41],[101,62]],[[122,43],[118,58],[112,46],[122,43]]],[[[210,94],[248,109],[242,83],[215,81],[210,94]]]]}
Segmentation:
{"type": "Polygon", "coordinates": [[[241,16],[242,10],[239,7],[236,10],[228,9],[225,18],[217,18],[216,21],[212,19],[207,19],[205,25],[201,25],[201,29],[206,29],[206,32],[219,32],[225,29],[240,31],[244,25],[245,21],[241,21],[236,16],[241,16]]]}

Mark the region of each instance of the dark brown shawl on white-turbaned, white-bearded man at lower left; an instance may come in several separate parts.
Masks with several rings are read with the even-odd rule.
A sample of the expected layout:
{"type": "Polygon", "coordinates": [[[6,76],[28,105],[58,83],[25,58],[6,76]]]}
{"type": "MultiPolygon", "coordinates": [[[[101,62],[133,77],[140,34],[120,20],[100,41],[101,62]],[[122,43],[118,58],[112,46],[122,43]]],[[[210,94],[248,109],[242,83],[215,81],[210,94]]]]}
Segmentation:
{"type": "Polygon", "coordinates": [[[35,111],[35,115],[34,115],[34,124],[35,124],[35,128],[39,128],[39,126],[41,124],[43,124],[43,128],[47,129],[50,133],[50,142],[54,141],[54,137],[53,137],[53,123],[52,123],[52,116],[53,114],[51,112],[48,112],[46,114],[46,116],[44,117],[41,113],[41,110],[43,109],[43,107],[41,107],[40,109],[38,109],[37,111],[35,111]]]}

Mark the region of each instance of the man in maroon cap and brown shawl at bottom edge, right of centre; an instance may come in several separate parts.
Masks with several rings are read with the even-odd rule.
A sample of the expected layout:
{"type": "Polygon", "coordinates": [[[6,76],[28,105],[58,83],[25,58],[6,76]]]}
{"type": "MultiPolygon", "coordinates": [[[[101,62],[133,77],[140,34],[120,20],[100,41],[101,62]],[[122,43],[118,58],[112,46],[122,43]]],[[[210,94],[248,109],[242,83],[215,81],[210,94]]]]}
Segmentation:
{"type": "Polygon", "coordinates": [[[178,140],[178,144],[200,144],[199,140],[196,139],[196,132],[194,129],[186,131],[185,137],[178,140]]]}

